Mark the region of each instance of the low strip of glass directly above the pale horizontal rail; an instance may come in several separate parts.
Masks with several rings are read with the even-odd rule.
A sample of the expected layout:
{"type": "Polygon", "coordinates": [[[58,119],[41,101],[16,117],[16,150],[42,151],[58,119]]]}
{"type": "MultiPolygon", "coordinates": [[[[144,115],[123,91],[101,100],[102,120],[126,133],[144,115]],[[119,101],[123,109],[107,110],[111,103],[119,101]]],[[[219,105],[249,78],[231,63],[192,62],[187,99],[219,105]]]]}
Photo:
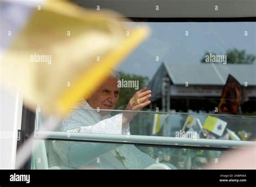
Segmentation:
{"type": "MultiPolygon", "coordinates": [[[[100,110],[99,112],[97,110],[73,109],[70,116],[61,121],[55,131],[121,134],[117,128],[122,124],[123,118],[120,114],[125,112],[126,114],[137,113],[129,123],[132,135],[244,141],[250,141],[256,137],[255,116],[121,110],[100,110]],[[101,111],[107,111],[110,114],[101,116],[99,113],[101,111]],[[92,129],[90,127],[92,125],[97,126],[92,129]]],[[[40,129],[43,121],[41,112],[38,112],[37,130],[40,129]]],[[[122,125],[124,126],[124,123],[122,125]]],[[[51,127],[52,124],[46,124],[46,126],[51,127]]],[[[125,133],[127,131],[122,134],[125,133]]]]}

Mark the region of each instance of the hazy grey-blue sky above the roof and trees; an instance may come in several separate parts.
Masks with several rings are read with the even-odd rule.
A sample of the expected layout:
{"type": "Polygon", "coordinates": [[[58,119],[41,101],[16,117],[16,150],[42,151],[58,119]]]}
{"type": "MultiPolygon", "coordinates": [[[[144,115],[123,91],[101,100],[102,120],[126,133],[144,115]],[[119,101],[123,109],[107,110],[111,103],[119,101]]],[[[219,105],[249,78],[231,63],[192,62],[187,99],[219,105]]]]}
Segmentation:
{"type": "Polygon", "coordinates": [[[237,48],[256,55],[255,22],[126,24],[146,24],[150,27],[151,34],[120,64],[117,70],[147,76],[150,79],[161,62],[201,63],[200,60],[206,51],[225,54],[227,49],[237,48]],[[186,31],[188,31],[187,36],[186,31]],[[156,56],[159,56],[159,61],[156,61],[156,56]]]}

